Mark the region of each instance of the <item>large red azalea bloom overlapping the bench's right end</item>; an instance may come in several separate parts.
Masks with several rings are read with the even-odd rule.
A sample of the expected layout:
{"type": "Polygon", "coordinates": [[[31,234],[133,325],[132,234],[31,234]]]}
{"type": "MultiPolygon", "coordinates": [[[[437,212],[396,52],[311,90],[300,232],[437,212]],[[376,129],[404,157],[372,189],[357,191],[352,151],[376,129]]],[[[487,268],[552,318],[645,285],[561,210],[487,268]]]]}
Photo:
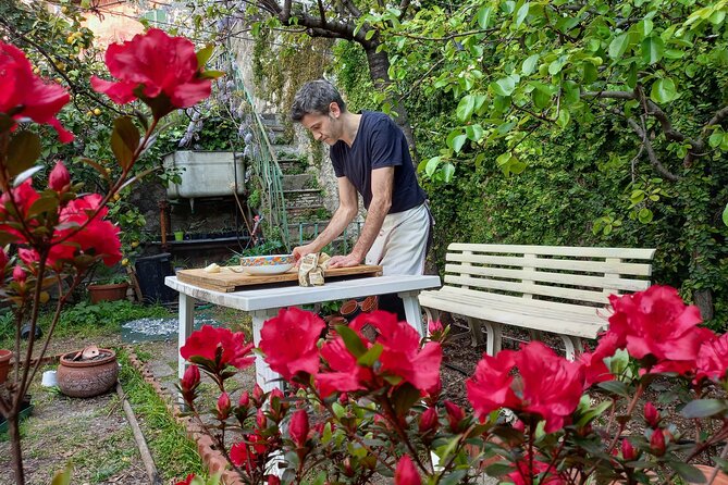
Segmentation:
{"type": "Polygon", "coordinates": [[[702,322],[695,306],[686,306],[677,289],[652,286],[645,291],[621,297],[612,295],[615,313],[609,318],[608,333],[616,334],[619,347],[630,356],[657,359],[651,372],[694,370],[700,346],[715,334],[699,327],[702,322]]]}

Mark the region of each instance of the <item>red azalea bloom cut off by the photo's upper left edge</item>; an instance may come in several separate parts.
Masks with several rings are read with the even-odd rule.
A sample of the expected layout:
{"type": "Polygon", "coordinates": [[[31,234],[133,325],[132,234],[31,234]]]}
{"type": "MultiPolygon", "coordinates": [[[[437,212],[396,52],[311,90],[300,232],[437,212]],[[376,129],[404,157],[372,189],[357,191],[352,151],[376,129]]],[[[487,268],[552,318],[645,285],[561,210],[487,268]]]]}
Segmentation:
{"type": "Polygon", "coordinates": [[[12,113],[14,120],[29,117],[55,128],[61,142],[73,140],[55,115],[71,97],[61,86],[45,84],[33,74],[27,58],[14,46],[0,41],[0,112],[12,113]]]}

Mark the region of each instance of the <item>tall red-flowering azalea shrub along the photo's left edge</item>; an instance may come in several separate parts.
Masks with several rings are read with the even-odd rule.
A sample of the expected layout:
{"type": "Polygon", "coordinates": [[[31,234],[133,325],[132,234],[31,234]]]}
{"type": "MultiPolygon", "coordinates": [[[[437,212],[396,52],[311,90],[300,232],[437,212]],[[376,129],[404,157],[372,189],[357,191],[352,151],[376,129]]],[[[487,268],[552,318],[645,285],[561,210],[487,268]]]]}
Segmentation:
{"type": "Polygon", "coordinates": [[[135,110],[137,123],[128,116],[114,121],[111,148],[121,175],[110,181],[109,167],[82,160],[97,169],[109,187],[104,195],[82,196],[83,184],[71,181],[64,161],[55,162],[46,187],[34,186],[33,176],[42,170],[36,164],[41,144],[27,123],[48,124],[61,141],[71,142],[73,134],[57,117],[70,96],[62,86],[35,75],[20,49],[0,41],[0,245],[5,246],[0,249],[0,298],[12,308],[17,325],[14,372],[5,391],[0,393],[0,411],[9,422],[17,484],[25,483],[17,427],[22,397],[40,368],[61,309],[91,266],[113,265],[122,258],[119,227],[104,220],[107,203],[136,179],[131,176],[132,169],[153,142],[161,117],[209,96],[210,79],[218,75],[202,70],[210,53],[207,49],[196,54],[189,40],[157,29],[109,49],[107,65],[121,80],[114,84],[95,78],[95,89],[119,103],[139,98],[149,107],[151,120],[135,110]],[[55,313],[45,341],[34,352],[38,350],[38,312],[49,300],[51,287],[59,295],[55,313]],[[26,321],[30,323],[29,337],[21,353],[20,327],[26,321]]]}

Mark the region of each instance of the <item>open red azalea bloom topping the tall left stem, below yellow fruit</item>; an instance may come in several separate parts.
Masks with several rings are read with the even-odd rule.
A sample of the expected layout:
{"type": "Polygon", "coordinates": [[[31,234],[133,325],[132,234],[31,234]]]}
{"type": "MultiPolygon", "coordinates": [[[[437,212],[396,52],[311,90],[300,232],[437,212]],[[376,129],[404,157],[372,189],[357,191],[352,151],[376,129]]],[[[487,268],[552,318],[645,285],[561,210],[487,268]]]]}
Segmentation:
{"type": "Polygon", "coordinates": [[[193,42],[183,37],[170,37],[158,28],[109,46],[104,60],[119,82],[92,76],[94,89],[106,92],[119,104],[140,98],[152,105],[158,119],[174,108],[189,108],[210,96],[212,83],[200,77],[201,66],[193,42]],[[169,100],[163,108],[150,102],[161,96],[169,100]]]}

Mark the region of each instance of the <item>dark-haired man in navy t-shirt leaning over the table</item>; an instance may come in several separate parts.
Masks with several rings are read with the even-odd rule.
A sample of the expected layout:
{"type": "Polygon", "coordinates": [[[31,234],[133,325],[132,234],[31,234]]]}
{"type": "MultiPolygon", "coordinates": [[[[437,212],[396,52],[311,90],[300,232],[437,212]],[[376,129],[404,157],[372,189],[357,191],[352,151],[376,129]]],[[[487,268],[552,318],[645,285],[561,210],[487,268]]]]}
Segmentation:
{"type": "Polygon", "coordinates": [[[296,259],[318,252],[341,235],[358,212],[367,217],[351,252],[334,256],[329,268],[381,264],[386,274],[422,274],[430,235],[425,195],[417,183],[407,140],[384,113],[350,113],[326,80],[305,84],[296,94],[292,117],[331,147],[338,181],[338,208],[312,242],[294,248],[296,259]]]}

